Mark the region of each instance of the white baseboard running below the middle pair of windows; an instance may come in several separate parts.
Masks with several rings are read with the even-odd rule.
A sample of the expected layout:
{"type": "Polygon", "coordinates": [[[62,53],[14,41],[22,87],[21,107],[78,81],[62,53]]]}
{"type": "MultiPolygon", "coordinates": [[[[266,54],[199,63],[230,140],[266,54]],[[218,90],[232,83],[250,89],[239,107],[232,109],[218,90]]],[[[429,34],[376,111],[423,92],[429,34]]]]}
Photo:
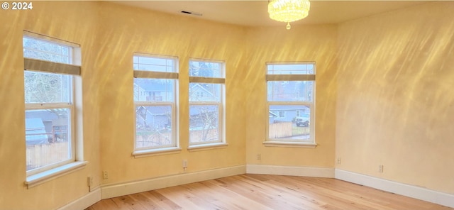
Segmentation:
{"type": "Polygon", "coordinates": [[[173,187],[181,184],[201,182],[209,179],[217,179],[233,175],[243,175],[246,172],[245,165],[206,170],[201,172],[182,173],[165,177],[157,177],[121,184],[109,184],[101,187],[101,199],[119,197],[126,194],[146,192],[153,189],[173,187]]]}

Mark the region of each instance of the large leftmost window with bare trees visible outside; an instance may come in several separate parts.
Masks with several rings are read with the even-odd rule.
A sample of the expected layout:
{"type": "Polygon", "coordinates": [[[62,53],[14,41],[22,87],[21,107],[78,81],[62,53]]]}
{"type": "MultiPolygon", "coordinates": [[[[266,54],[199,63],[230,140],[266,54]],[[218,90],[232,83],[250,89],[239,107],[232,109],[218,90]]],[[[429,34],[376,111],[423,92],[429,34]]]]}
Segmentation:
{"type": "Polygon", "coordinates": [[[79,46],[23,36],[27,175],[76,160],[74,76],[79,46]]]}

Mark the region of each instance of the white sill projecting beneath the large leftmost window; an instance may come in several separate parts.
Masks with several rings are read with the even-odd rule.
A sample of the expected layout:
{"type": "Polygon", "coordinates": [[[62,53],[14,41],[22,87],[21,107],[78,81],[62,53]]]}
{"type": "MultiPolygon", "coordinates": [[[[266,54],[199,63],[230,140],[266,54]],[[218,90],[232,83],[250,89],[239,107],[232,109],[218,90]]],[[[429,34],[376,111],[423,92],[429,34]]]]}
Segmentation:
{"type": "Polygon", "coordinates": [[[27,189],[30,189],[31,187],[38,186],[39,184],[43,184],[44,182],[48,182],[57,177],[67,175],[77,170],[81,170],[83,167],[85,167],[85,165],[87,165],[87,161],[71,162],[67,165],[62,165],[45,172],[40,172],[38,174],[28,176],[24,184],[26,184],[27,189]]]}

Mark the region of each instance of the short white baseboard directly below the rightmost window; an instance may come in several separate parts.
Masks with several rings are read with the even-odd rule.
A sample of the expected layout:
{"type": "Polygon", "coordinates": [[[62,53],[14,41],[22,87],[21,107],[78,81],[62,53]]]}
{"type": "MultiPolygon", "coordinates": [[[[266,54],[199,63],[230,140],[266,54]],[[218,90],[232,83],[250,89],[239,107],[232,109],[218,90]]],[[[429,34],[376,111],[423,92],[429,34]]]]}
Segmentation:
{"type": "Polygon", "coordinates": [[[328,167],[295,167],[279,165],[247,165],[246,173],[260,175],[287,175],[300,177],[334,178],[334,169],[328,167]]]}

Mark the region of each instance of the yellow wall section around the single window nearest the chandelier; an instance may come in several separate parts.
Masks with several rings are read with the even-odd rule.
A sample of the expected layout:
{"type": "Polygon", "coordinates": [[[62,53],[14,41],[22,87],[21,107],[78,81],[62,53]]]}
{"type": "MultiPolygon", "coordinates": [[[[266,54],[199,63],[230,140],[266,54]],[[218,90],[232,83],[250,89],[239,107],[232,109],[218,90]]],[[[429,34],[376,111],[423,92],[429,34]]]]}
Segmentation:
{"type": "Polygon", "coordinates": [[[245,78],[248,164],[333,167],[336,119],[337,26],[294,26],[248,30],[245,78]],[[266,62],[316,62],[316,148],[265,147],[266,62]],[[260,154],[261,160],[257,160],[260,154]]]}

